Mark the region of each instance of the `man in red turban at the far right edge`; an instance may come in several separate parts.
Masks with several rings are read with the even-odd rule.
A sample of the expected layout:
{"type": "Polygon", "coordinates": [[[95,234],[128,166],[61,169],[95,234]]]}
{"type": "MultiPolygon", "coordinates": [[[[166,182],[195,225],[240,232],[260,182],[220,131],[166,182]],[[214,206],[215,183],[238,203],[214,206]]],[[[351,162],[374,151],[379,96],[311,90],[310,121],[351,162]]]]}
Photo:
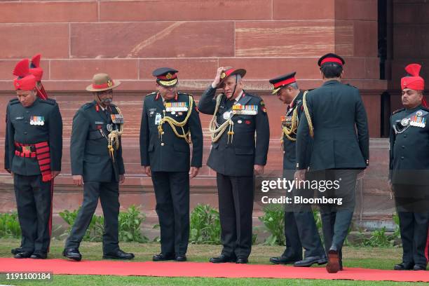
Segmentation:
{"type": "Polygon", "coordinates": [[[404,108],[390,117],[390,187],[400,219],[402,263],[395,270],[425,270],[429,226],[429,109],[422,106],[425,82],[420,64],[405,67],[404,108]]]}

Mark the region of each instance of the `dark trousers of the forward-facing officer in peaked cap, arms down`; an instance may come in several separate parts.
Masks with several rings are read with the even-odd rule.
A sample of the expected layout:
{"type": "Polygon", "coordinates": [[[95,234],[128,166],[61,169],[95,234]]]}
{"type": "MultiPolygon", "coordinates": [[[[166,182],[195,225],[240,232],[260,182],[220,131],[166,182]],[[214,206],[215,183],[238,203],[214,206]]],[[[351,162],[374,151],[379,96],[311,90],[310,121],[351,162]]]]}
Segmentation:
{"type": "Polygon", "coordinates": [[[161,252],[186,254],[189,243],[189,173],[152,172],[161,252]]]}

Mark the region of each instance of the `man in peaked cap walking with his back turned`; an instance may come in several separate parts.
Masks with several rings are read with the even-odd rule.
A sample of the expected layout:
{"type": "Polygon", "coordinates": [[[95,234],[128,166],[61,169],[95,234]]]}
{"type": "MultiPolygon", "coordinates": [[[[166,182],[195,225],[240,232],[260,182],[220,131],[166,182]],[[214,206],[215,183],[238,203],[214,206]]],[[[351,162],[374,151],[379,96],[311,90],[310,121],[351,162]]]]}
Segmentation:
{"type": "Polygon", "coordinates": [[[308,170],[318,182],[339,184],[318,191],[319,196],[341,198],[342,203],[320,204],[329,273],[343,268],[341,247],[355,209],[356,179],[369,164],[367,113],[359,90],[341,83],[343,64],[343,58],[333,53],[320,57],[323,85],[303,96],[304,114],[297,132],[295,177],[304,180],[308,170]]]}

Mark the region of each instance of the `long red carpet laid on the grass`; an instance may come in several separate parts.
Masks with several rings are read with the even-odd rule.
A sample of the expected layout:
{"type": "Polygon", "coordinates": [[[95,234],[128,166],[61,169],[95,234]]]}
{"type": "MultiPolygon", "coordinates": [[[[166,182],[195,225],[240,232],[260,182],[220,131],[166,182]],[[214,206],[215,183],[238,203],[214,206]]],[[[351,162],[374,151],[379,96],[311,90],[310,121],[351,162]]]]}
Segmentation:
{"type": "Polygon", "coordinates": [[[54,274],[136,275],[164,277],[219,278],[302,278],[374,281],[429,282],[429,271],[393,271],[365,268],[345,268],[329,274],[325,268],[297,268],[281,265],[210,264],[202,262],[128,262],[128,261],[68,261],[65,259],[0,258],[0,271],[46,271],[54,274]]]}

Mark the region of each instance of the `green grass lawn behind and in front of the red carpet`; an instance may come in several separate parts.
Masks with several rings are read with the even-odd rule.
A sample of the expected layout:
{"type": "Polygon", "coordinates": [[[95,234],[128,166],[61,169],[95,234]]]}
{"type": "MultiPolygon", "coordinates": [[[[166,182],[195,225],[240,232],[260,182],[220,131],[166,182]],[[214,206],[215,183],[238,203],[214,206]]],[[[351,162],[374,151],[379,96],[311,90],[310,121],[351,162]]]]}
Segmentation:
{"type": "MultiPolygon", "coordinates": [[[[11,248],[18,246],[20,240],[0,239],[0,257],[12,257],[11,248]]],[[[49,258],[62,257],[64,241],[53,240],[49,258]]],[[[121,243],[125,252],[134,252],[134,261],[151,261],[153,254],[160,252],[158,243],[121,243]]],[[[101,243],[82,243],[79,248],[83,259],[101,260],[101,243]]],[[[212,256],[219,254],[219,245],[189,245],[187,257],[189,261],[207,262],[212,256]]],[[[270,264],[268,259],[279,256],[284,250],[280,246],[255,245],[250,255],[251,264],[270,264]]],[[[396,247],[344,247],[343,263],[345,267],[392,269],[401,261],[402,249],[396,247]]],[[[1,271],[1,270],[0,270],[1,271]]],[[[262,279],[262,278],[164,278],[109,275],[55,275],[52,282],[21,282],[1,280],[0,284],[8,285],[428,285],[427,283],[404,282],[372,282],[348,280],[299,280],[299,279],[262,279]]]]}

